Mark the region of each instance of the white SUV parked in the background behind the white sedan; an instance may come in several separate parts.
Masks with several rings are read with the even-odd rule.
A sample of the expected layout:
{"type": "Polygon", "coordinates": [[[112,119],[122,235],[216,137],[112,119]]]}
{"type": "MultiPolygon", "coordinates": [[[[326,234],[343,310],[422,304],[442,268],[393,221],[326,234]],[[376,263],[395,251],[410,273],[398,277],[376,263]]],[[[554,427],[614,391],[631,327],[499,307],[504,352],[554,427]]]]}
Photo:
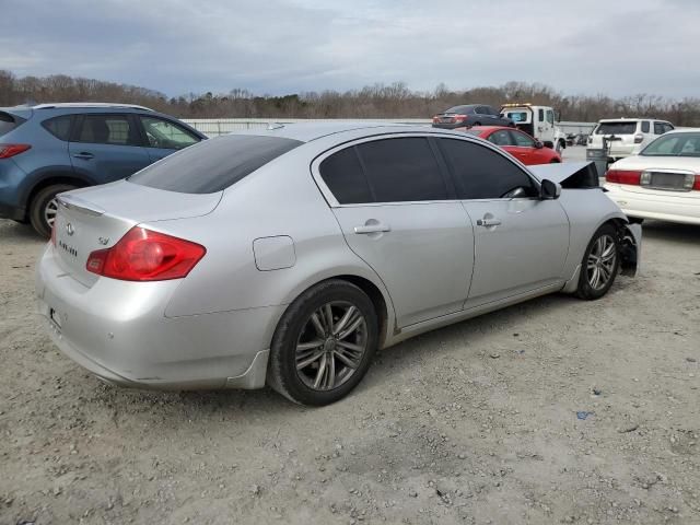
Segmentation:
{"type": "Polygon", "coordinates": [[[670,122],[651,118],[606,118],[588,137],[588,149],[603,148],[603,138],[612,139],[608,159],[615,162],[640,151],[652,140],[674,129],[670,122]]]}

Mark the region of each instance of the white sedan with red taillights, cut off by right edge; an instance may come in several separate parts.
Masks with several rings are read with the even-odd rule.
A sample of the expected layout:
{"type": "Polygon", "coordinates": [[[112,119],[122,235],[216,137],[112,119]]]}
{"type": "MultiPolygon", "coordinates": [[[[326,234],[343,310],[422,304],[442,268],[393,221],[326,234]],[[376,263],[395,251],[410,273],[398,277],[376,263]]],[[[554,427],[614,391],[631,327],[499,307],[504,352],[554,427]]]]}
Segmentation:
{"type": "Polygon", "coordinates": [[[700,224],[700,129],[669,131],[612,164],[605,187],[631,218],[700,224]]]}

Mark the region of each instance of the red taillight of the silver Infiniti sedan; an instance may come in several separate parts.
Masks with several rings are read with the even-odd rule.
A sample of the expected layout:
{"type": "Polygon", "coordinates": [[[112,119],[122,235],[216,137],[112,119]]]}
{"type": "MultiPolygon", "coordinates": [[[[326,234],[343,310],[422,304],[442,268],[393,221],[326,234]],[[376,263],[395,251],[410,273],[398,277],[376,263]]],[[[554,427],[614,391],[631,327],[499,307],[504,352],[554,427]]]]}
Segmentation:
{"type": "Polygon", "coordinates": [[[207,249],[190,241],[133,226],[117,244],[90,254],[85,268],[122,281],[182,279],[207,249]]]}

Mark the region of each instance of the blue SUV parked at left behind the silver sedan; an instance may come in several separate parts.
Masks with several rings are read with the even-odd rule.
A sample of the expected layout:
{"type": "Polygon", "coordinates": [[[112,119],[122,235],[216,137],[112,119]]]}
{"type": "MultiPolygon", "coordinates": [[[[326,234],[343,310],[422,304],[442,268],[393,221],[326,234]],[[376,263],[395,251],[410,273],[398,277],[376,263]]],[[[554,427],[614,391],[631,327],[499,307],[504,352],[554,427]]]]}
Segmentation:
{"type": "Polygon", "coordinates": [[[48,237],[56,195],[127,177],[206,138],[142,106],[0,108],[0,218],[31,222],[48,237]]]}

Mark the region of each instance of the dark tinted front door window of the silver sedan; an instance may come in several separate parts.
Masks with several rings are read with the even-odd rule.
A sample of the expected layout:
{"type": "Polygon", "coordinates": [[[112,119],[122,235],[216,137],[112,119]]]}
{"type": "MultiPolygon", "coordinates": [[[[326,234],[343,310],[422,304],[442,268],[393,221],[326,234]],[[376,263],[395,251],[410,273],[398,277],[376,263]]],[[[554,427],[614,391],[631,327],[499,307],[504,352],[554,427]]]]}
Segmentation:
{"type": "Polygon", "coordinates": [[[515,188],[537,195],[533,179],[504,155],[465,140],[439,139],[460,199],[499,199],[515,188]]]}

